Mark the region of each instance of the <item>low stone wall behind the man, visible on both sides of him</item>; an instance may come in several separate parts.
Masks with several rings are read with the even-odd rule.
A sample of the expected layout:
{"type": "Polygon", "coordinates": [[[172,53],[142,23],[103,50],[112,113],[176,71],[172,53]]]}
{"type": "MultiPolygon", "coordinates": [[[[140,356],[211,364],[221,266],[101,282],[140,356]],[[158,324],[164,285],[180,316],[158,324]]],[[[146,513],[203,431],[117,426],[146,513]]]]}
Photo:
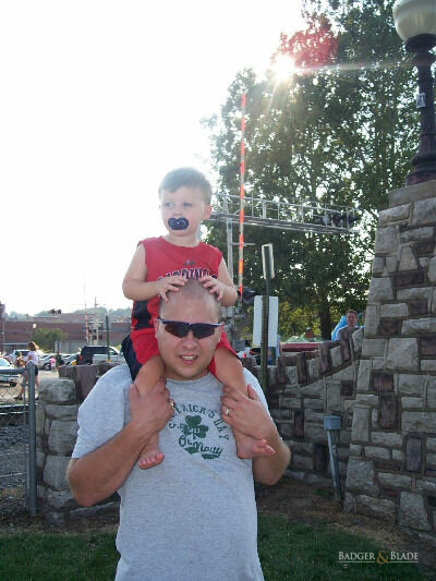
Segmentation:
{"type": "MultiPolygon", "coordinates": [[[[289,474],[331,487],[324,415],[341,415],[338,443],[339,468],[344,488],[349,441],[356,391],[363,329],[341,341],[328,341],[319,351],[283,356],[269,367],[271,415],[284,441],[292,449],[289,474]]],[[[254,360],[244,364],[254,375],[254,360]]],[[[73,499],[65,470],[77,435],[80,403],[110,364],[61,367],[63,377],[40,384],[37,407],[38,501],[52,523],[63,522],[89,509],[73,499]]]]}

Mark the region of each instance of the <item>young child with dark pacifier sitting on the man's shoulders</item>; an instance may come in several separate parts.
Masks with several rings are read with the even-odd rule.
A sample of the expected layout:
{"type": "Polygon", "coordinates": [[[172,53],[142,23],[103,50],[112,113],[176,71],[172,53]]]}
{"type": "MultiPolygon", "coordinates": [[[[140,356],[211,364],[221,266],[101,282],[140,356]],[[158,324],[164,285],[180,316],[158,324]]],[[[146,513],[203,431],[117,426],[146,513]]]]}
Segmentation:
{"type": "MultiPolygon", "coordinates": [[[[160,184],[159,198],[168,233],[138,243],[122,286],[124,295],[134,301],[130,341],[129,337],[124,339],[123,351],[140,394],[147,394],[165,375],[154,320],[158,317],[160,299],[168,301],[168,291],[177,292],[187,278],[196,278],[217,294],[223,306],[232,305],[238,299],[221,252],[198,239],[199,226],[211,213],[211,187],[203,173],[192,168],[171,171],[160,184]]],[[[222,384],[247,394],[242,364],[226,334],[208,368],[222,384]]],[[[274,453],[265,440],[233,432],[240,458],[274,453]]],[[[156,434],[142,450],[138,467],[152,468],[162,460],[156,434]]]]}

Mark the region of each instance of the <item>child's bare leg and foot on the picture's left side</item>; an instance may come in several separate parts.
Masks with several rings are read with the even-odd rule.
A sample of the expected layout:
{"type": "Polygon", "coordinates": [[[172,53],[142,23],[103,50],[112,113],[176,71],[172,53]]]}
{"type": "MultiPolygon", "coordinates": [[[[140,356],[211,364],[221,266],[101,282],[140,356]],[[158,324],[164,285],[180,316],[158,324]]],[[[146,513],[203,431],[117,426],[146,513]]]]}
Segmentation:
{"type": "MultiPolygon", "coordinates": [[[[156,382],[165,374],[165,365],[162,360],[155,355],[149,359],[141,370],[137,372],[135,377],[135,386],[137,387],[141,395],[148,394],[156,382]]],[[[140,460],[137,465],[145,470],[147,468],[153,468],[164,460],[164,455],[159,450],[159,436],[154,434],[148,443],[141,450],[140,460]]]]}

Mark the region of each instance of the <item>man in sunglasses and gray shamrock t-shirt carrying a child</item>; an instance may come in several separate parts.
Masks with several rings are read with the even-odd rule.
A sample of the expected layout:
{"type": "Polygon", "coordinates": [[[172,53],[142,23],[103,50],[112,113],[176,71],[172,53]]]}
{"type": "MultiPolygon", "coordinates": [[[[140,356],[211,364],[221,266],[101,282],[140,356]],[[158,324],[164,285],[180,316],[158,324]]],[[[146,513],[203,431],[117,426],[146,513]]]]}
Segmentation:
{"type": "Polygon", "coordinates": [[[119,489],[117,580],[262,580],[253,476],[276,483],[289,449],[251,374],[246,397],[231,386],[222,391],[207,372],[221,332],[215,295],[189,280],[169,293],[159,317],[167,384],[140,396],[126,366],[102,376],[80,410],[72,492],[90,506],[119,489]],[[275,453],[239,459],[230,426],[275,453]],[[165,460],[143,471],[136,461],[156,431],[165,460]]]}

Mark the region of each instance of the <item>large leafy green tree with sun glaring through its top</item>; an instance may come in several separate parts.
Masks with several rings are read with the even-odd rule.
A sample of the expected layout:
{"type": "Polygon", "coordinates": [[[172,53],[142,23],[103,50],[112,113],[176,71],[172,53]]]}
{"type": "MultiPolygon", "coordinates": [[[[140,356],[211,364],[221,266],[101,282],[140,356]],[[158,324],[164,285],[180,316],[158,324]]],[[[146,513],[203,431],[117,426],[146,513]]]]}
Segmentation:
{"type": "MultiPolygon", "coordinates": [[[[246,285],[258,285],[259,246],[272,242],[275,291],[292,308],[317,313],[324,338],[332,307],[361,311],[366,302],[377,210],[401,185],[412,157],[413,82],[399,64],[391,4],[350,0],[339,10],[338,2],[306,1],[307,29],[282,35],[277,51],[292,56],[300,74],[278,84],[272,70],[263,81],[240,72],[220,117],[207,122],[221,192],[238,192],[240,97],[246,93],[247,194],[348,205],[362,216],[356,237],[244,229],[256,244],[245,253],[246,285]]],[[[225,247],[223,230],[213,226],[208,240],[225,247]]]]}

